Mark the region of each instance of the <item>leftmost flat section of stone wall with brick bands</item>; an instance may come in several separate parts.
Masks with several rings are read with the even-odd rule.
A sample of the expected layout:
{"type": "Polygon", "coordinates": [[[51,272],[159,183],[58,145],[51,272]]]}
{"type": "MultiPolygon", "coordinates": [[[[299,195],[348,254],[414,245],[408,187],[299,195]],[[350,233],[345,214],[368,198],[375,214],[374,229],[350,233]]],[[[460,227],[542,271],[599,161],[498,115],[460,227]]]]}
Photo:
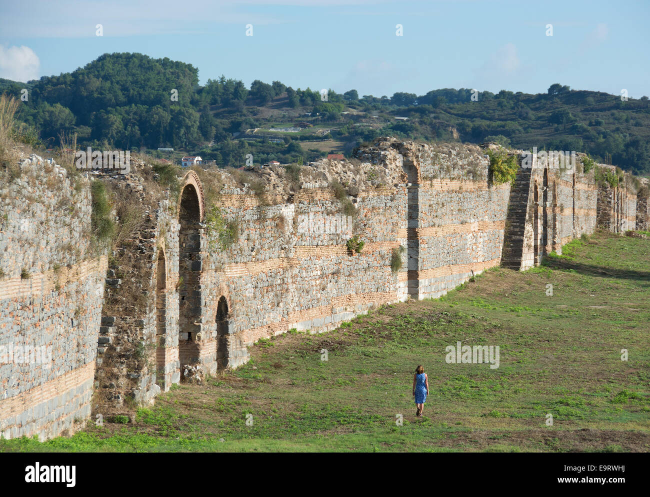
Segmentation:
{"type": "Polygon", "coordinates": [[[0,434],[73,433],[90,416],[107,257],[87,177],[31,155],[0,186],[0,434]],[[27,347],[27,350],[25,350],[27,347]]]}

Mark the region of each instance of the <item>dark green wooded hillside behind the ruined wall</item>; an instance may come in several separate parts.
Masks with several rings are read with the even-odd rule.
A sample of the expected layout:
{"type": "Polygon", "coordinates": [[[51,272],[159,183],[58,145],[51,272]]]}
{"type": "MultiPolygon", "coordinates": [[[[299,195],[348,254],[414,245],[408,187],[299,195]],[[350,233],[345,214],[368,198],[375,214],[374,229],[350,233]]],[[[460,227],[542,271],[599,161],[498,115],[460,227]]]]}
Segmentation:
{"type": "Polygon", "coordinates": [[[21,88],[29,88],[30,97],[18,117],[50,147],[64,131],[77,133],[81,146],[148,150],[173,160],[198,153],[220,166],[242,166],[248,153],[255,163],[308,162],[391,135],[582,151],[650,173],[647,97],[621,101],[560,84],[535,95],[445,88],[422,96],[359,97],[356,90],[329,90],[323,101],[320,92],[279,81],[245,88],[222,76],[200,86],[190,64],[113,53],[29,84],[0,81],[0,91],[16,97],[21,88]],[[158,147],[175,153],[161,155],[158,147]]]}

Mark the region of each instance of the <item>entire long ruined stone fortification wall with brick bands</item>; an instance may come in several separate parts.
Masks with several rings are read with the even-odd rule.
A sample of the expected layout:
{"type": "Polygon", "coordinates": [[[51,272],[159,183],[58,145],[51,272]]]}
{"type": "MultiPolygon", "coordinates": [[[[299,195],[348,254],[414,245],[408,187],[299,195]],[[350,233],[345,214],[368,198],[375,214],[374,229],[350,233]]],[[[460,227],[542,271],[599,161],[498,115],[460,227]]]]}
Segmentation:
{"type": "Polygon", "coordinates": [[[24,201],[32,190],[19,183],[5,192],[0,344],[29,335],[60,351],[51,372],[0,366],[6,436],[51,437],[88,418],[93,377],[93,413],[127,411],[127,399],[151,403],[183,379],[246,363],[260,338],[327,331],[384,303],[436,298],[493,266],[525,270],[597,224],[634,229],[637,207],[647,210],[643,190],[599,186],[593,170],[519,168],[512,185],[493,185],[479,147],[391,138],[292,179],[276,166],[244,181],[237,171],[190,171],[177,194],[152,190],[147,167],[94,179],[131,220],[109,261],[88,251],[87,184],[55,189],[38,177],[29,188],[40,204],[24,201]],[[20,231],[24,212],[47,220],[72,197],[74,209],[49,214],[43,235],[20,231]],[[66,242],[79,253],[62,257],[66,242]],[[20,279],[23,266],[30,280],[20,279]],[[103,294],[90,291],[104,281],[103,294]]]}

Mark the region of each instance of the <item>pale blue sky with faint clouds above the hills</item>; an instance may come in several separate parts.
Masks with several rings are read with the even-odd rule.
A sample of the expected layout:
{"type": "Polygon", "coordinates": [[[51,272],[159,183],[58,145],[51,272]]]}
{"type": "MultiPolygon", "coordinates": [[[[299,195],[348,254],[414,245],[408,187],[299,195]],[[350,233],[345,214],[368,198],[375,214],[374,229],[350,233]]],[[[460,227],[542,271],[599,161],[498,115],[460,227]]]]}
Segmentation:
{"type": "Polygon", "coordinates": [[[650,96],[649,0],[0,0],[0,12],[0,77],[14,81],[139,52],[192,64],[201,84],[650,96]]]}

